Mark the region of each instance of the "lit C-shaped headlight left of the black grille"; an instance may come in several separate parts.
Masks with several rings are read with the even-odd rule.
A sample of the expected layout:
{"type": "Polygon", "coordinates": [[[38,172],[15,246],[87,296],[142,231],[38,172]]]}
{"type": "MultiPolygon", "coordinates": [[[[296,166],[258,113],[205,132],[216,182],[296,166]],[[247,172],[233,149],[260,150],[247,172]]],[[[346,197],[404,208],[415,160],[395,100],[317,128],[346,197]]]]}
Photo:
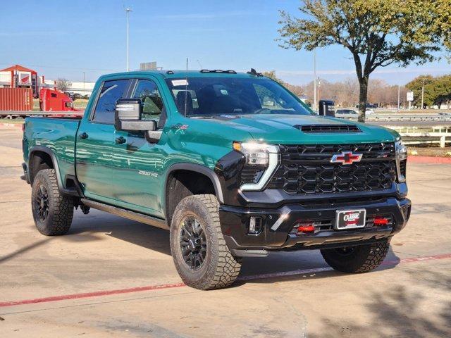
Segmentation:
{"type": "Polygon", "coordinates": [[[233,149],[245,156],[240,189],[263,189],[278,166],[278,146],[257,142],[233,142],[233,149]]]}

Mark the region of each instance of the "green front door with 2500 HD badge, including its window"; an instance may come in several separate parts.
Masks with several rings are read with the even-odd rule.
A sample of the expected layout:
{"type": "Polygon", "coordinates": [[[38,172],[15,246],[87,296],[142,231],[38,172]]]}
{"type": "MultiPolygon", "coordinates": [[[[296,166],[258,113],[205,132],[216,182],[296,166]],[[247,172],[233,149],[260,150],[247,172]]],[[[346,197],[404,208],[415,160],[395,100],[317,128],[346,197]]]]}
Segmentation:
{"type": "MultiPolygon", "coordinates": [[[[141,100],[142,120],[156,120],[159,130],[162,130],[166,123],[166,108],[156,83],[135,80],[131,97],[141,100]]],[[[116,179],[123,177],[124,180],[118,199],[128,204],[127,208],[163,217],[161,182],[164,179],[163,163],[167,158],[165,138],[149,141],[144,132],[116,131],[115,139],[123,142],[117,144],[112,154],[113,162],[117,163],[116,179]]]]}

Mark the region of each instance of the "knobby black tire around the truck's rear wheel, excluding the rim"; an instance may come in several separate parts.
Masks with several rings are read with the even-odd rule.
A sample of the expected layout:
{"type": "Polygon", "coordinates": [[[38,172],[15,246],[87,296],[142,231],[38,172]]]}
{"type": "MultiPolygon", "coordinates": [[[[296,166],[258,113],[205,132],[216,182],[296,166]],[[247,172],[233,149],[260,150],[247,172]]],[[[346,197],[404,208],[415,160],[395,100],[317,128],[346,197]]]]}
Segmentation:
{"type": "Polygon", "coordinates": [[[58,190],[54,169],[40,170],[33,180],[31,206],[37,230],[46,236],[66,234],[73,218],[73,199],[62,196],[58,190]],[[47,218],[39,217],[39,189],[44,187],[48,196],[47,218]]]}

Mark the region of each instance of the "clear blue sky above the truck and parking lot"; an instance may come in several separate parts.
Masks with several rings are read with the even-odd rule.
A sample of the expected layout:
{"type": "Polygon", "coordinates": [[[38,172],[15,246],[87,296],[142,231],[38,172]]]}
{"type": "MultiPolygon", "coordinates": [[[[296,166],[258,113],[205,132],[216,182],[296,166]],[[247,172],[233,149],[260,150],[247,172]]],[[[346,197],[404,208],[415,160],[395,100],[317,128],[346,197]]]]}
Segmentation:
{"type": "MultiPolygon", "coordinates": [[[[125,70],[125,12],[130,6],[130,69],[157,61],[164,69],[276,70],[292,84],[312,78],[311,52],[282,49],[278,9],[299,13],[299,1],[75,0],[1,1],[0,68],[19,63],[49,79],[94,81],[125,70]],[[200,65],[199,65],[200,64],[200,65]]],[[[347,50],[317,51],[319,76],[355,77],[347,50]]],[[[404,84],[413,77],[450,73],[445,61],[378,68],[373,78],[404,84]]]]}

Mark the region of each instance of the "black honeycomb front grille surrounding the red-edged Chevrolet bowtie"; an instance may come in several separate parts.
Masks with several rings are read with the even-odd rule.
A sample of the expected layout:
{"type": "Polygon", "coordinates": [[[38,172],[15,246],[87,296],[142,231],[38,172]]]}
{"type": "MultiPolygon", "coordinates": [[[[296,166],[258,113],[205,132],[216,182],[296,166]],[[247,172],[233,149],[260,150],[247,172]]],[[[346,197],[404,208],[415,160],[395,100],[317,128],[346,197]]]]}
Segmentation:
{"type": "Polygon", "coordinates": [[[389,189],[396,180],[395,144],[280,145],[281,163],[268,189],[288,194],[321,194],[389,189]],[[334,154],[352,151],[362,160],[330,163],[334,154]]]}

